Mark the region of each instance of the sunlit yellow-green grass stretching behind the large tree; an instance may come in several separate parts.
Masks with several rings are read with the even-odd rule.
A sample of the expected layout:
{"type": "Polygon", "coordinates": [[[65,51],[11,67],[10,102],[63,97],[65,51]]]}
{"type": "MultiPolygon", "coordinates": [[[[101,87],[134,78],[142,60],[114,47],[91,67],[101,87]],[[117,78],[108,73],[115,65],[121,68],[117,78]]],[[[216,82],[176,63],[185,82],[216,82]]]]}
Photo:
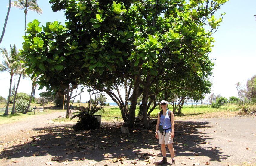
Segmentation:
{"type": "MultiPolygon", "coordinates": [[[[42,107],[40,106],[40,104],[31,104],[31,106],[37,106],[37,108],[42,107]]],[[[88,106],[88,104],[86,103],[82,103],[82,106],[88,106]]],[[[1,104],[0,104],[0,108],[1,108],[1,104]]],[[[4,105],[3,105],[4,106],[4,105]]],[[[79,106],[79,104],[74,103],[73,106],[79,106]]],[[[9,114],[11,114],[11,107],[12,104],[10,104],[10,109],[9,109],[9,114]]],[[[37,115],[41,115],[41,114],[50,114],[50,113],[54,113],[54,112],[63,112],[63,108],[52,108],[53,104],[48,104],[45,106],[45,111],[44,112],[39,112],[39,110],[36,110],[35,115],[34,112],[28,112],[28,114],[23,115],[22,113],[16,113],[14,115],[1,115],[3,114],[3,112],[0,113],[0,124],[4,124],[4,123],[11,123],[14,121],[19,121],[22,120],[24,118],[27,117],[32,117],[32,116],[37,116],[37,115]],[[48,109],[47,109],[48,108],[48,109]]],[[[170,110],[172,110],[172,107],[169,107],[170,110]]],[[[190,116],[196,116],[196,115],[200,115],[201,117],[198,118],[202,118],[203,116],[207,116],[206,114],[208,113],[216,113],[216,112],[227,112],[226,114],[228,114],[228,112],[234,112],[234,111],[238,111],[240,109],[240,107],[238,105],[235,104],[226,104],[224,106],[221,106],[219,109],[216,108],[211,108],[210,105],[193,105],[193,106],[183,106],[182,109],[182,115],[175,115],[177,118],[179,117],[187,117],[189,118],[190,116]],[[204,115],[205,114],[205,115],[204,115]]],[[[66,112],[66,109],[64,110],[64,112],[66,112]]],[[[135,115],[137,116],[139,112],[139,107],[137,106],[135,115]]],[[[158,107],[156,107],[150,114],[150,118],[156,118],[157,114],[158,114],[159,110],[158,107]]],[[[106,120],[106,121],[112,121],[113,117],[122,117],[121,115],[121,111],[119,109],[118,106],[104,106],[104,110],[98,111],[96,112],[97,115],[102,115],[102,119],[106,120]]],[[[66,118],[55,118],[53,119],[53,121],[55,122],[76,122],[77,119],[74,120],[69,120],[66,118]]]]}

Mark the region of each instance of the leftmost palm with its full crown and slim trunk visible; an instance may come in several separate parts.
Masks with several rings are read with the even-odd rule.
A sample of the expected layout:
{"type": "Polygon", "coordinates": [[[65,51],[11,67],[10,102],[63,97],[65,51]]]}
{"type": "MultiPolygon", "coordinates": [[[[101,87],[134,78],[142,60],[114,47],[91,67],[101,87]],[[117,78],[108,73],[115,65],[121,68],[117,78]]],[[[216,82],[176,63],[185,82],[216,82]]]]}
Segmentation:
{"type": "Polygon", "coordinates": [[[10,96],[11,96],[11,83],[12,77],[17,71],[19,70],[20,65],[20,54],[18,53],[15,44],[13,46],[10,45],[11,51],[8,54],[6,48],[0,48],[0,53],[3,55],[2,64],[0,64],[0,72],[7,71],[11,78],[10,78],[10,88],[9,88],[9,95],[6,103],[6,109],[4,115],[8,114],[8,108],[10,103],[10,96]]]}

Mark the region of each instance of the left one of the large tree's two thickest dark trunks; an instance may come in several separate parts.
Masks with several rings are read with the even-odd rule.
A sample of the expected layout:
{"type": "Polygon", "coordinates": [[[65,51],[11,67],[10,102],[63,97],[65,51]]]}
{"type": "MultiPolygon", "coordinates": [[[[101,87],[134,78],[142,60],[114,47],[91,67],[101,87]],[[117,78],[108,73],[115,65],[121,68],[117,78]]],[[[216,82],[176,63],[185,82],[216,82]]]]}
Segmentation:
{"type": "Polygon", "coordinates": [[[125,126],[132,128],[134,125],[134,120],[135,120],[135,110],[136,110],[136,105],[137,105],[137,98],[138,98],[138,91],[140,87],[140,75],[137,76],[137,79],[134,82],[134,89],[133,89],[133,95],[131,99],[131,106],[130,110],[128,112],[128,117],[125,122],[125,126]]]}

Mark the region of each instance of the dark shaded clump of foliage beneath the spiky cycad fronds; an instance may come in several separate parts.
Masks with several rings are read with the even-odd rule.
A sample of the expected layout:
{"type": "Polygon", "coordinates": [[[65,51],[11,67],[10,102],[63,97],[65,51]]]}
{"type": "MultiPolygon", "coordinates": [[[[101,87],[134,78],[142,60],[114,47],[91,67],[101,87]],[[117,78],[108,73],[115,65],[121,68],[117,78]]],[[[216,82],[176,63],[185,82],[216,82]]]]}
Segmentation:
{"type": "Polygon", "coordinates": [[[100,122],[92,115],[84,114],[73,126],[74,130],[94,130],[100,128],[100,122]]]}

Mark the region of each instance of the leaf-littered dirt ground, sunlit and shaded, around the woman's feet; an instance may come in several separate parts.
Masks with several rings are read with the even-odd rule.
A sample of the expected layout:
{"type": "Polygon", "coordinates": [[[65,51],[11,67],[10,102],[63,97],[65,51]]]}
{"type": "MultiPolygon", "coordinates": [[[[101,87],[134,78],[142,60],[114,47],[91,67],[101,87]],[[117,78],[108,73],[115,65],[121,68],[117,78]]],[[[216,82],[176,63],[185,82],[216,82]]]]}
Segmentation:
{"type": "MultiPolygon", "coordinates": [[[[154,130],[134,130],[122,135],[122,124],[103,122],[100,130],[81,133],[72,130],[73,123],[51,121],[60,115],[62,113],[40,115],[0,125],[0,142],[4,141],[0,143],[0,165],[45,165],[46,162],[53,165],[153,165],[161,159],[154,130]],[[32,142],[35,137],[39,139],[32,142]],[[143,155],[149,151],[151,156],[143,155]],[[142,157],[136,161],[138,154],[142,157]],[[113,163],[114,158],[119,161],[113,163]],[[124,161],[120,161],[122,159],[124,161]]],[[[187,165],[205,165],[204,162],[214,166],[242,165],[243,162],[256,165],[253,159],[256,158],[255,120],[255,117],[231,117],[177,121],[176,166],[182,165],[181,162],[187,165]],[[195,159],[190,160],[190,157],[195,159]]]]}

